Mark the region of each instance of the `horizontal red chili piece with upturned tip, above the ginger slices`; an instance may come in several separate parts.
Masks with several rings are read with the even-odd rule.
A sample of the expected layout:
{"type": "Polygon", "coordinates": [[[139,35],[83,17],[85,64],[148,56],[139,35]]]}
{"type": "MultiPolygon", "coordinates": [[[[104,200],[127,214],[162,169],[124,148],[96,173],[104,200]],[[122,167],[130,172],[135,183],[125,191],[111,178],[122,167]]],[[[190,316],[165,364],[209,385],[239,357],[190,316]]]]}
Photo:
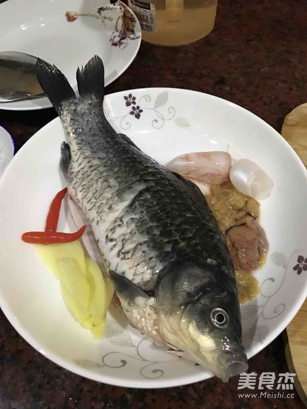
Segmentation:
{"type": "Polygon", "coordinates": [[[75,233],[27,232],[23,234],[22,239],[26,243],[32,244],[68,243],[78,240],[84,233],[85,228],[86,225],[82,226],[81,229],[75,233]]]}

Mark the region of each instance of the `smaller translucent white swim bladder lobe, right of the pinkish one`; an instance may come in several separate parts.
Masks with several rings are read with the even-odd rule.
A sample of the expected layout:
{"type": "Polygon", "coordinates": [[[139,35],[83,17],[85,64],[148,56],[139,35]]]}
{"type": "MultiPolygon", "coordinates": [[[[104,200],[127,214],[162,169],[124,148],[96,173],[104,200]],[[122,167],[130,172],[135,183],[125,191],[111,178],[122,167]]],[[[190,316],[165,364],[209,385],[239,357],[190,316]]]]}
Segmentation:
{"type": "Polygon", "coordinates": [[[249,159],[240,159],[233,164],[230,180],[239,192],[258,200],[269,197],[273,189],[270,176],[249,159]]]}

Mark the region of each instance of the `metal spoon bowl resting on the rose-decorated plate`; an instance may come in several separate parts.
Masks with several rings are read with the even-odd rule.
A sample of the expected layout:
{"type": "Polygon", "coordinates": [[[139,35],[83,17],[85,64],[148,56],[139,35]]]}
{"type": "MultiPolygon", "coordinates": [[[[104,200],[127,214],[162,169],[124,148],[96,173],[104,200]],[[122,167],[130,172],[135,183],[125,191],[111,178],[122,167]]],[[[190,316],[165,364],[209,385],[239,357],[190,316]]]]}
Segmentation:
{"type": "Polygon", "coordinates": [[[35,74],[37,57],[0,52],[0,103],[45,96],[35,74]]]}

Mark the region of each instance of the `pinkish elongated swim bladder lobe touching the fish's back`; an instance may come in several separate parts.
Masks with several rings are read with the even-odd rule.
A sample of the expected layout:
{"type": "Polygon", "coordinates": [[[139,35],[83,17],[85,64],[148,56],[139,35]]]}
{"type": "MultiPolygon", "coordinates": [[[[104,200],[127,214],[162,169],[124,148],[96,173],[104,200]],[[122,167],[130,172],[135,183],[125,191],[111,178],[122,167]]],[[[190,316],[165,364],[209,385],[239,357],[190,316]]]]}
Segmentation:
{"type": "Polygon", "coordinates": [[[193,152],[175,157],[166,167],[202,184],[220,185],[229,180],[231,156],[227,152],[193,152]]]}

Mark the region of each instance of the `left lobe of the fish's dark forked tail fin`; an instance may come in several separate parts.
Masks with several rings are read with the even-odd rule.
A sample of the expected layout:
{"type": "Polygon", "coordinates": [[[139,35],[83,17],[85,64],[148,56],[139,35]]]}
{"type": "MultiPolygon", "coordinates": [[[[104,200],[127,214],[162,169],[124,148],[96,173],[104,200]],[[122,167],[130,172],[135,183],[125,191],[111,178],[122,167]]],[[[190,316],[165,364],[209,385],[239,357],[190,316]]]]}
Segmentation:
{"type": "Polygon", "coordinates": [[[55,66],[38,58],[35,66],[37,80],[58,115],[65,101],[76,99],[76,94],[63,73],[55,66]]]}

